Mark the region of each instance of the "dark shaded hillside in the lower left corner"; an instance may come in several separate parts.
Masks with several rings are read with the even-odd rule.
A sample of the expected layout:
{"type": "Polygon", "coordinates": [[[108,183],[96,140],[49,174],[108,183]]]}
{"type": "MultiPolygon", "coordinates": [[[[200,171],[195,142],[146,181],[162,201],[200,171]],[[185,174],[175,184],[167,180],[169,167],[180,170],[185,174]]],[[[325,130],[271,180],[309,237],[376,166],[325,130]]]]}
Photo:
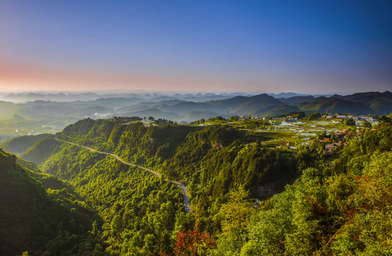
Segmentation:
{"type": "Polygon", "coordinates": [[[66,189],[46,191],[36,178],[47,175],[32,174],[0,150],[0,254],[78,251],[81,241],[88,242],[85,228],[93,214],[66,189]]]}

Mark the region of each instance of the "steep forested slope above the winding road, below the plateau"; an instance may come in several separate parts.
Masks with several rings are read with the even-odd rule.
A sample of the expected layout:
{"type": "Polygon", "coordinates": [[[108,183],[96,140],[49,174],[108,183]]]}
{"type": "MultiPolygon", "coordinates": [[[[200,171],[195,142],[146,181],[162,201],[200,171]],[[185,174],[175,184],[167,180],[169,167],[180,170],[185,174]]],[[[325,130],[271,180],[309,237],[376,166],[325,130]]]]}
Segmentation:
{"type": "MultiPolygon", "coordinates": [[[[151,169],[158,167],[160,174],[165,177],[183,180],[187,183],[197,182],[198,178],[193,177],[195,175],[193,170],[197,169],[202,172],[198,175],[205,177],[203,186],[211,187],[210,191],[205,193],[216,193],[215,196],[217,196],[217,191],[223,193],[222,191],[227,191],[227,188],[235,186],[234,180],[237,183],[247,184],[254,196],[257,196],[259,195],[257,184],[277,180],[287,183],[295,165],[294,159],[284,159],[276,150],[262,149],[261,144],[257,144],[252,151],[241,143],[244,139],[243,134],[230,127],[219,125],[145,127],[142,123],[116,122],[114,119],[81,120],[66,127],[63,133],[57,134],[57,137],[68,142],[91,146],[100,151],[112,152],[130,163],[150,166],[151,169]],[[238,164],[242,161],[252,161],[248,159],[249,151],[252,151],[254,157],[258,159],[265,158],[265,161],[255,162],[252,167],[247,166],[243,170],[242,168],[246,165],[238,166],[238,164]],[[206,162],[214,164],[208,160],[211,157],[220,159],[220,164],[214,166],[213,170],[205,166],[206,162]],[[234,164],[227,162],[234,161],[234,159],[237,159],[234,164]],[[225,164],[222,161],[225,161],[225,164]],[[279,166],[285,167],[278,170],[271,161],[278,161],[279,166]],[[269,166],[262,167],[266,163],[269,166]],[[234,169],[240,170],[243,175],[233,174],[234,169]],[[218,170],[222,171],[222,174],[218,170]],[[280,173],[279,176],[277,176],[278,173],[280,173]],[[223,183],[225,183],[225,188],[222,187],[223,183]]],[[[55,174],[61,173],[56,170],[55,174]]],[[[70,178],[70,176],[61,177],[70,178]]]]}

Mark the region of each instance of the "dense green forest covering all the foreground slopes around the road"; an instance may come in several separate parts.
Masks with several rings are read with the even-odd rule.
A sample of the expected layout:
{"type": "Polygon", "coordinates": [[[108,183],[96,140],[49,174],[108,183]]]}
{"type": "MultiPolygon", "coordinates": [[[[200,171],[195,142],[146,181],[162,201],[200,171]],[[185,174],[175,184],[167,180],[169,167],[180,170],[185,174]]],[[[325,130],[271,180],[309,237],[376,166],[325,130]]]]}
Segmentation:
{"type": "Polygon", "coordinates": [[[360,137],[347,136],[329,155],[316,143],[296,152],[272,148],[219,124],[83,119],[56,137],[163,178],[51,135],[21,155],[38,167],[1,151],[0,232],[9,238],[1,241],[2,254],[392,253],[388,117],[360,137]],[[180,188],[165,178],[187,186],[192,213],[185,214],[180,188]]]}

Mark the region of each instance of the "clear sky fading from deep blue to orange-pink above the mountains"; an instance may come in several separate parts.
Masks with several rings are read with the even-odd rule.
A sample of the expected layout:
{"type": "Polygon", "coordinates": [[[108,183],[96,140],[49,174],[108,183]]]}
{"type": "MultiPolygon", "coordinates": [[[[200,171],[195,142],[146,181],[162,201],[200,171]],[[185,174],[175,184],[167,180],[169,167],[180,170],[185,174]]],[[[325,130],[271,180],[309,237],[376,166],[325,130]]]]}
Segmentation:
{"type": "Polygon", "coordinates": [[[0,1],[1,90],[392,90],[392,1],[0,1]]]}

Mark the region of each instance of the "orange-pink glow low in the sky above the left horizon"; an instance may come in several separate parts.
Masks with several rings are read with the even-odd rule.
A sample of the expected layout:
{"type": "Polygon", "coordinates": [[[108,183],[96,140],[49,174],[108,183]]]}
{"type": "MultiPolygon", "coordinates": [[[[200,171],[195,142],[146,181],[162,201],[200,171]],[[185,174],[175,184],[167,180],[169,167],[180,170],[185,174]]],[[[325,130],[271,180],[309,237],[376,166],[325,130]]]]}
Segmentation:
{"type": "MultiPolygon", "coordinates": [[[[136,73],[93,72],[0,61],[0,90],[238,90],[241,81],[136,73]],[[192,89],[191,89],[192,90],[192,89]]],[[[247,85],[249,85],[247,81],[247,85]]]]}

